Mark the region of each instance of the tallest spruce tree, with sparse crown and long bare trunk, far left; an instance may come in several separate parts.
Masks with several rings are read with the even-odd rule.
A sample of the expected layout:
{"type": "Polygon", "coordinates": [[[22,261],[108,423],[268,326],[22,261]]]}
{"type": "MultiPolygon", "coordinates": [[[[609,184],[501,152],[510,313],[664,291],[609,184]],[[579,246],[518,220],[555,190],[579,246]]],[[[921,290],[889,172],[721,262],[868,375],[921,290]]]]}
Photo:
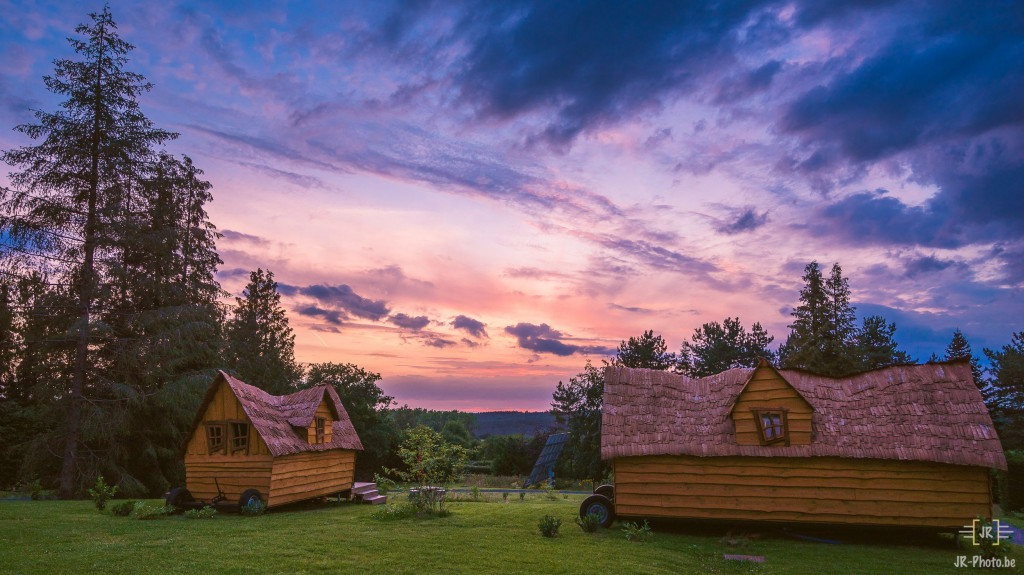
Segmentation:
{"type": "MultiPolygon", "coordinates": [[[[89,14],[79,38],[69,42],[79,59],[57,59],[46,87],[67,99],[55,113],[36,112],[37,124],[17,131],[39,143],[4,151],[5,163],[20,169],[10,175],[13,190],[4,190],[0,211],[11,246],[61,262],[59,282],[75,296],[76,350],[71,385],[57,395],[67,398],[62,417],[62,467],[59,493],[70,496],[87,470],[80,465],[83,422],[93,423],[91,399],[110,383],[96,377],[92,346],[104,327],[94,322],[94,308],[104,295],[106,264],[116,259],[113,245],[123,229],[122,214],[132,206],[131,182],[141,179],[152,148],[175,137],[157,129],[141,113],[138,96],[151,85],[126,70],[133,46],[122,40],[108,7],[89,14]]],[[[88,430],[86,430],[88,431],[88,430]]]]}

